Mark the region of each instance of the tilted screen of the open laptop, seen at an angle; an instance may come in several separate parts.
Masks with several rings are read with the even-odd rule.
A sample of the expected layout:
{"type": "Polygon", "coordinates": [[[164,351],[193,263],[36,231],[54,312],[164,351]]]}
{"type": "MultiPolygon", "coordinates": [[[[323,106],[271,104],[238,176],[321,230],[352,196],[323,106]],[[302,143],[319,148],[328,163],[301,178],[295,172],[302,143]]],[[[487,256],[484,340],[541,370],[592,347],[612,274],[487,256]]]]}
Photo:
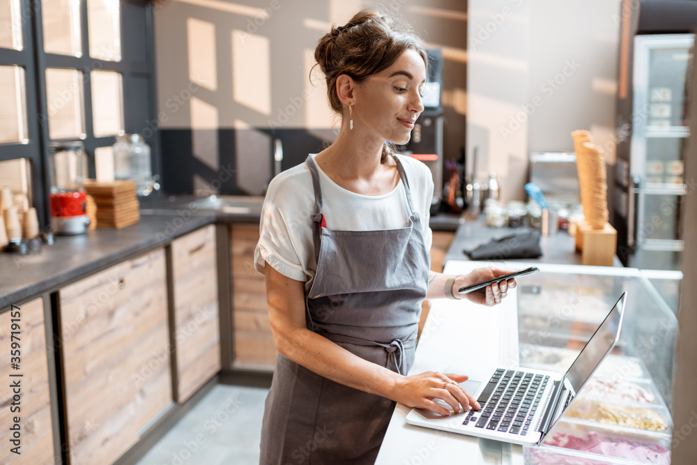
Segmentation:
{"type": "Polygon", "coordinates": [[[576,357],[574,363],[566,373],[566,378],[574,388],[574,392],[579,392],[590,376],[595,372],[595,369],[600,365],[606,353],[608,353],[615,342],[620,338],[620,325],[622,323],[622,314],[625,309],[625,298],[627,293],[622,294],[620,300],[615,303],[615,306],[610,310],[608,316],[600,324],[599,328],[590,337],[590,340],[579,356],[576,357]]]}

